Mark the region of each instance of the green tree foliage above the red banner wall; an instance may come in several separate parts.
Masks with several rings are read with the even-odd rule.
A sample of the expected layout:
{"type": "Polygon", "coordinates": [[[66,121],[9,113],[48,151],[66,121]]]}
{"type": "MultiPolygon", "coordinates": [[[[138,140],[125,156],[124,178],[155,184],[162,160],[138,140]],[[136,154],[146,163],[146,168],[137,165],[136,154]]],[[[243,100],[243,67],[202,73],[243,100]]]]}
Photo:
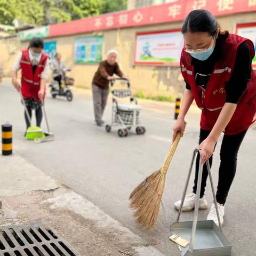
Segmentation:
{"type": "Polygon", "coordinates": [[[48,25],[126,9],[127,0],[0,0],[0,23],[48,25]]]}

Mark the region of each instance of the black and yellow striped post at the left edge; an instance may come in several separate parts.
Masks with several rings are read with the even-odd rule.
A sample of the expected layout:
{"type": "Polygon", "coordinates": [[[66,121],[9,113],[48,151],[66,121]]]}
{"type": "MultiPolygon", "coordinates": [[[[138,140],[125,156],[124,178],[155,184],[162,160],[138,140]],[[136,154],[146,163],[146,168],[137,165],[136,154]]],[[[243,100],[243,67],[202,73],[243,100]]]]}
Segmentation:
{"type": "Polygon", "coordinates": [[[2,125],[2,155],[9,156],[12,154],[12,125],[2,125]]]}

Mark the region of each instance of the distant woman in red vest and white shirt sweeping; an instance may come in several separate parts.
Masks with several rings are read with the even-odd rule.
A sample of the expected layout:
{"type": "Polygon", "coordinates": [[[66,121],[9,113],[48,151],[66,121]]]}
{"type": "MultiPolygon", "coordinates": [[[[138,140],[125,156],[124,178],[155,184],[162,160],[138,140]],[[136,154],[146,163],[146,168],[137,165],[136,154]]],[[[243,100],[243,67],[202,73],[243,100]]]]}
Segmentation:
{"type": "MultiPolygon", "coordinates": [[[[13,65],[13,86],[22,93],[28,113],[32,116],[32,110],[36,112],[36,126],[40,127],[43,113],[42,101],[45,98],[46,79],[49,74],[49,56],[43,52],[44,41],[42,38],[34,37],[29,47],[19,53],[13,65]],[[21,69],[21,87],[18,82],[18,71],[21,69]]],[[[27,128],[30,126],[25,111],[27,128]]],[[[25,134],[26,135],[26,134],[25,134]]]]}

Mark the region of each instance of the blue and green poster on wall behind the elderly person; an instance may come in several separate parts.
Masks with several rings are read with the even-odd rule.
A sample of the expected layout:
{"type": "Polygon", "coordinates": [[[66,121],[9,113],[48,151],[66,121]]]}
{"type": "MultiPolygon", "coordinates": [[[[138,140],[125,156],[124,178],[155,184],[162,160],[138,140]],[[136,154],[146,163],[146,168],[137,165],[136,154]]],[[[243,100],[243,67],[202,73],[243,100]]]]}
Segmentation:
{"type": "Polygon", "coordinates": [[[77,38],[75,42],[75,62],[100,62],[102,60],[102,43],[102,36],[77,38]]]}

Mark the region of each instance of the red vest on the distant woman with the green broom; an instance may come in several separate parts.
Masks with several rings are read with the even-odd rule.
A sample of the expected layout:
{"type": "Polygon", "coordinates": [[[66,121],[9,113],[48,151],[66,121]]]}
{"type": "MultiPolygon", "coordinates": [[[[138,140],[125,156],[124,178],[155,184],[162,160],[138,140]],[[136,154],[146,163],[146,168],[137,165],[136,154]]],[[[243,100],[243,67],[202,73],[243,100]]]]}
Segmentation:
{"type": "Polygon", "coordinates": [[[33,68],[29,59],[29,50],[26,49],[22,51],[20,61],[20,67],[22,70],[21,93],[24,98],[34,98],[36,101],[40,101],[38,98],[38,91],[40,90],[41,73],[44,70],[46,60],[48,58],[48,55],[43,52],[41,60],[36,67],[35,74],[33,75],[33,68]]]}

